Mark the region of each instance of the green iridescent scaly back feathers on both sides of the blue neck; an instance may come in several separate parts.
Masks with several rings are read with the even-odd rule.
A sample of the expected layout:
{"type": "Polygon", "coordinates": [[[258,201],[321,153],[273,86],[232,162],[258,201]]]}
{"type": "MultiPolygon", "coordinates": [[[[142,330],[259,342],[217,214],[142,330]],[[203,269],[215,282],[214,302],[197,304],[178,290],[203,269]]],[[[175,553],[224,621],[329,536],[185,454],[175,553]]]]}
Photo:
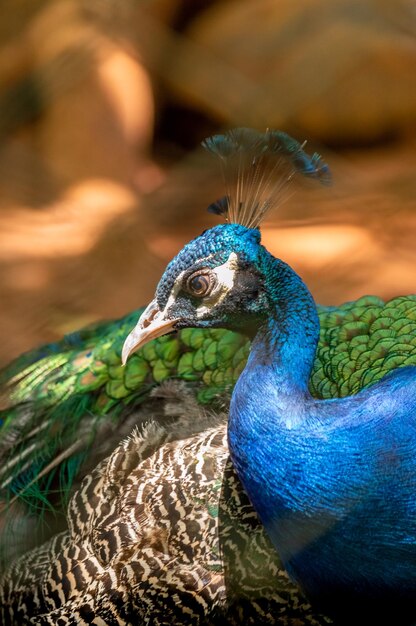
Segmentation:
{"type": "MultiPolygon", "coordinates": [[[[0,374],[0,493],[32,510],[61,509],[95,433],[167,379],[195,389],[202,405],[223,399],[246,362],[246,338],[187,329],[120,363],[140,310],[33,350],[0,374]],[[54,459],[58,462],[54,463],[54,459]],[[58,492],[55,493],[55,492],[58,492]]],[[[416,296],[363,297],[319,307],[321,336],[310,379],[316,397],[356,393],[390,370],[416,364],[416,296]]]]}

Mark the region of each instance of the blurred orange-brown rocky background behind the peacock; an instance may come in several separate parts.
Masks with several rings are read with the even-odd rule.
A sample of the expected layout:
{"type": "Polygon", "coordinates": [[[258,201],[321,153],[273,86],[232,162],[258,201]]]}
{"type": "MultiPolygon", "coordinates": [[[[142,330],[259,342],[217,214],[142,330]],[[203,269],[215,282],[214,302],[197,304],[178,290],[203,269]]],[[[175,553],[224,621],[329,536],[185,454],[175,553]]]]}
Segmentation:
{"type": "Polygon", "coordinates": [[[331,166],[264,229],[318,302],[416,292],[415,35],[415,0],[2,2],[0,363],[147,303],[233,126],[331,166]]]}

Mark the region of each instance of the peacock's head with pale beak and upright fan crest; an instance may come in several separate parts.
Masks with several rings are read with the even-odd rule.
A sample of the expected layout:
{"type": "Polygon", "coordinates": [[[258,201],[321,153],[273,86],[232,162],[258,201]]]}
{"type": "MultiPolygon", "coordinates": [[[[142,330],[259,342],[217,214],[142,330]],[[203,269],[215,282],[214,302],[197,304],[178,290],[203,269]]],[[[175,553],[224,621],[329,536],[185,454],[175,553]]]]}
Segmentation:
{"type": "Polygon", "coordinates": [[[252,336],[272,306],[272,257],[260,243],[258,224],[296,172],[329,180],[319,155],[309,157],[286,133],[236,129],[204,146],[221,158],[228,190],[209,210],[225,214],[228,223],[202,233],[169,263],[124,343],[123,363],[149,340],[181,328],[220,327],[252,336]]]}

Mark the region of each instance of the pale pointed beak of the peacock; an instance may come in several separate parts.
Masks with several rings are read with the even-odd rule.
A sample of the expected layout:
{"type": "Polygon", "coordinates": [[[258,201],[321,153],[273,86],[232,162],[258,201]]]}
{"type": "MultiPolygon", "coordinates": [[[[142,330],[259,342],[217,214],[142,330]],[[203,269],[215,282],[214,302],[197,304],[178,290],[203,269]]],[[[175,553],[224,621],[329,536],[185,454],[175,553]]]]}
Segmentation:
{"type": "Polygon", "coordinates": [[[143,311],[136,326],[124,342],[121,352],[121,362],[123,365],[127,363],[129,356],[144,346],[145,343],[174,330],[173,327],[179,320],[166,319],[164,315],[165,312],[159,309],[156,299],[152,300],[149,306],[143,311]]]}

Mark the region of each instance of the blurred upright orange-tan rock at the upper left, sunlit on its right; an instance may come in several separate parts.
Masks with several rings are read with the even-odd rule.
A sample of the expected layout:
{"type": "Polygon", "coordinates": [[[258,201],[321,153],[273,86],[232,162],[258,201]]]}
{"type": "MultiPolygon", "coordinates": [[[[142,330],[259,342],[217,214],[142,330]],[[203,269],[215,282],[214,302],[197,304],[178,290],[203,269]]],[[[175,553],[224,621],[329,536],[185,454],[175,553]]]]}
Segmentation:
{"type": "Polygon", "coordinates": [[[153,135],[151,82],[140,61],[71,0],[41,12],[31,38],[36,67],[49,69],[41,76],[42,156],[64,180],[105,176],[131,183],[153,135]]]}

